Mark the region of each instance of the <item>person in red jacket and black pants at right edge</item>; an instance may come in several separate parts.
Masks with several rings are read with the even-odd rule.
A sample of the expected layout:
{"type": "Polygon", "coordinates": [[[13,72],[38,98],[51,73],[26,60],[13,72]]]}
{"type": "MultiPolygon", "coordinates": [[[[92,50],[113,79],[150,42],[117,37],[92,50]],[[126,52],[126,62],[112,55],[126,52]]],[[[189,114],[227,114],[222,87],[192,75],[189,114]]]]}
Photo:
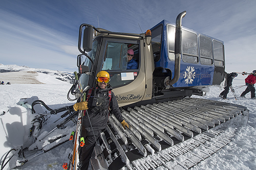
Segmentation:
{"type": "Polygon", "coordinates": [[[248,92],[251,92],[251,99],[256,99],[255,87],[254,87],[255,83],[256,83],[256,70],[253,70],[252,74],[245,79],[245,85],[247,86],[247,88],[240,95],[241,98],[245,98],[245,94],[247,94],[248,92]]]}

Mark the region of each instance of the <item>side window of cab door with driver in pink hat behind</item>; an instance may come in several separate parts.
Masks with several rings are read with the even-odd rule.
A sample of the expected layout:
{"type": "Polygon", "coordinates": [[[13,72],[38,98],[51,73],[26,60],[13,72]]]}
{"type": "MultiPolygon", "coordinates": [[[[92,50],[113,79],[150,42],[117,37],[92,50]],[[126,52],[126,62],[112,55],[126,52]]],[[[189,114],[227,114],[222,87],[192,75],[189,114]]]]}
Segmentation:
{"type": "Polygon", "coordinates": [[[106,42],[102,70],[109,72],[112,87],[131,83],[140,67],[139,44],[106,42]]]}

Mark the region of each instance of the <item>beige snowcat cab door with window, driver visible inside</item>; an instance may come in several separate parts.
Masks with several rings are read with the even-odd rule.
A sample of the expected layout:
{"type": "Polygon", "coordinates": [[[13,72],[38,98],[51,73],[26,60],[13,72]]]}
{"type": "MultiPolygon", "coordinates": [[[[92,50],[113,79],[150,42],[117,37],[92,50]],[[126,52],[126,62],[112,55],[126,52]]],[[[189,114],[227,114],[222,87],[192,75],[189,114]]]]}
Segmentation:
{"type": "Polygon", "coordinates": [[[119,107],[139,102],[145,94],[143,40],[105,38],[99,70],[108,71],[119,107]],[[131,53],[131,54],[130,54],[131,53]],[[131,59],[132,58],[132,59],[131,59]]]}

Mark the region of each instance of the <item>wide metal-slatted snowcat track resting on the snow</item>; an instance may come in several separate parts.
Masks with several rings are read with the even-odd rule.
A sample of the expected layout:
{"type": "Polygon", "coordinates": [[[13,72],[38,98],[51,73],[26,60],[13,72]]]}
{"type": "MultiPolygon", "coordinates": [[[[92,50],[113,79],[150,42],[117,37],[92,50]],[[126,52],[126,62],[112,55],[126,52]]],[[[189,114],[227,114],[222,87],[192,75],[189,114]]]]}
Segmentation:
{"type": "Polygon", "coordinates": [[[247,123],[248,114],[244,106],[196,98],[128,108],[122,115],[130,128],[123,130],[111,115],[101,133],[103,154],[95,148],[92,166],[189,169],[229,143],[235,132],[225,129],[247,123]]]}

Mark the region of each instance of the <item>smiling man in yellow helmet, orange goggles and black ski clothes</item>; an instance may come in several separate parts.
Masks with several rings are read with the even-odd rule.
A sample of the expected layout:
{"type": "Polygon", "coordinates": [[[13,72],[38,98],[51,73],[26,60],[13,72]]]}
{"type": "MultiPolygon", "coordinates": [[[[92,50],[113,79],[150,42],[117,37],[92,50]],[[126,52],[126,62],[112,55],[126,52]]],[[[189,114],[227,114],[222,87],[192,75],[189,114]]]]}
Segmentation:
{"type": "Polygon", "coordinates": [[[109,118],[109,111],[122,124],[123,128],[129,128],[129,125],[124,121],[118,107],[116,96],[112,86],[109,84],[110,75],[106,71],[99,71],[97,76],[96,86],[87,91],[87,101],[78,102],[74,104],[74,110],[86,110],[82,118],[82,132],[81,132],[81,147],[80,155],[80,169],[86,170],[89,167],[90,158],[99,139],[100,133],[106,128],[109,118]],[[89,115],[89,117],[88,117],[89,115]]]}

